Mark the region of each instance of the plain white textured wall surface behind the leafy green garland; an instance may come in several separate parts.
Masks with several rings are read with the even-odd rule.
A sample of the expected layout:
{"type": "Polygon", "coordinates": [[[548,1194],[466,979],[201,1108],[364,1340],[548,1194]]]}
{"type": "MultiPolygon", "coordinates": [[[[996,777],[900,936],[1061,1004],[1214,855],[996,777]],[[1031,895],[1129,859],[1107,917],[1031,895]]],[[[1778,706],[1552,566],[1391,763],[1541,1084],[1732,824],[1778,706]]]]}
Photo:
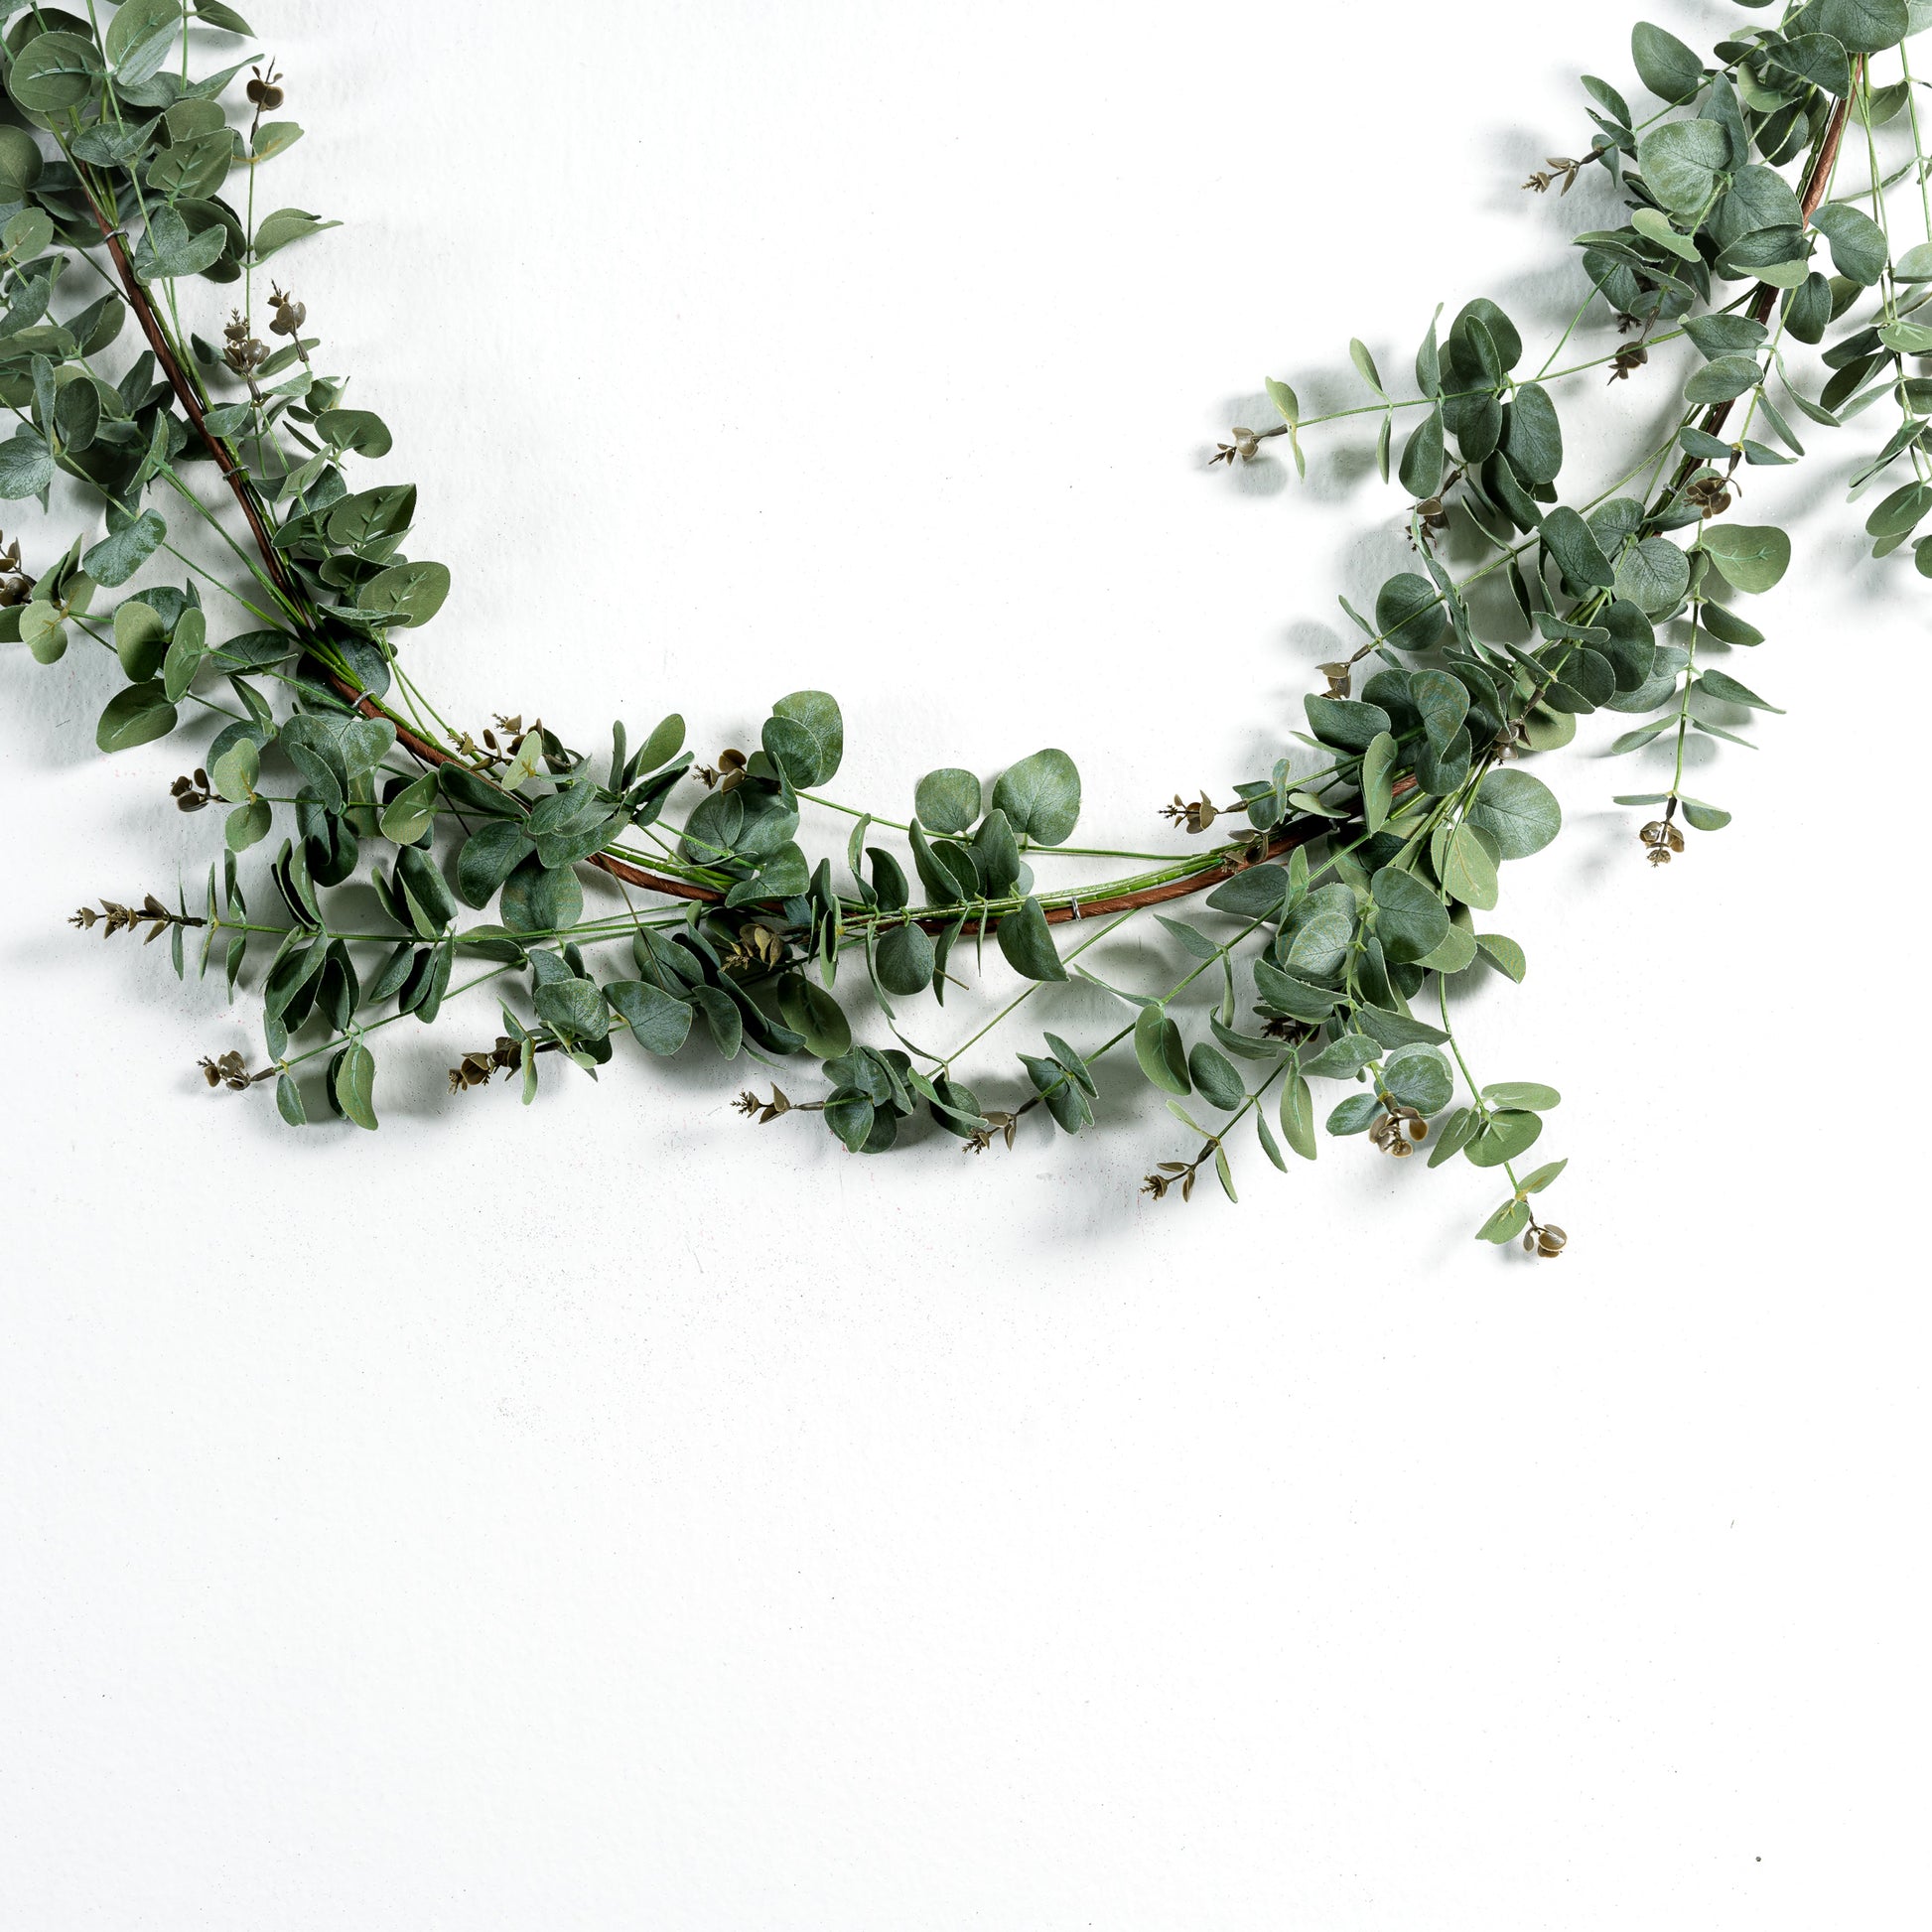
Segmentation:
{"type": "MultiPolygon", "coordinates": [[[[346,222],[278,267],[456,572],[444,709],[711,752],[823,684],[840,796],[1063,744],[1101,844],[1273,757],[1405,554],[1364,437],[1296,485],[1215,435],[1439,299],[1567,315],[1607,193],[1517,184],[1578,68],[1640,93],[1623,10],[1515,0],[249,12],[311,129],[269,205],[346,222]]],[[[1528,983],[1464,1005],[1565,1094],[1553,1267],[1362,1140],[1140,1200],[1186,1148],[1124,1082],[978,1161],[696,1059],[448,1099],[483,1009],[384,1049],[379,1136],[290,1134],[193,1068],[249,1009],[60,923],[199,877],[191,748],[99,757],[104,668],[12,651],[0,1922],[1897,1922],[1928,587],[1859,564],[1866,427],[1812,437],[1735,667],[1791,715],[1692,786],[1735,827],[1654,873],[1592,724],[1528,983]]]]}

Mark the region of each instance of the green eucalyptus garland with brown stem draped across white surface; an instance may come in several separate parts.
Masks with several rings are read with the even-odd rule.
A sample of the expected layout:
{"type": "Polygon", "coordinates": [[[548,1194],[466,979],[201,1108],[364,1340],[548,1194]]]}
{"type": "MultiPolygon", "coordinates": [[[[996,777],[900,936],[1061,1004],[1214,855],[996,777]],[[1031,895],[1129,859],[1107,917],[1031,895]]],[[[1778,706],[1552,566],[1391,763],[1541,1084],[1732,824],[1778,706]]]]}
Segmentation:
{"type": "MultiPolygon", "coordinates": [[[[1082,781],[1051,748],[991,786],[929,771],[896,817],[829,798],[844,723],[817,690],[781,697],[755,748],[701,761],[676,715],[636,740],[616,724],[595,755],[541,721],[452,724],[406,668],[408,634],[450,587],[404,553],[415,487],[375,481],[390,429],[325,373],[282,286],[284,251],[336,226],[261,189],[301,139],[284,77],[218,0],[0,17],[0,398],[15,417],[0,497],[46,510],[58,473],[95,520],[37,570],[17,537],[6,549],[0,638],[43,665],[75,643],[116,659],[102,752],[189,734],[174,800],[224,819],[205,887],[102,900],[75,923],[166,935],[174,970],[214,964],[230,999],[245,983],[265,1059],[203,1068],[214,1088],[272,1086],[292,1126],[375,1128],[384,1028],[479,1009],[452,1092],[502,1072],[527,1103],[547,1066],[595,1076],[628,1036],[761,1063],[746,1115],[781,1130],[819,1115],[856,1153],[931,1138],[927,1122],[976,1151],[1010,1148],[1030,1115],[1080,1134],[1095,1065],[1130,1055],[1186,1136],[1148,1175],[1155,1198],[1186,1200],[1202,1169],[1235,1198],[1246,1138],[1287,1169],[1325,1126],[1499,1171],[1480,1238],[1555,1256],[1540,1196],[1563,1161],[1519,1163],[1557,1094],[1482,1082],[1449,1003],[1478,968],[1524,974],[1488,916],[1503,867],[1561,829],[1526,761],[1578,715],[1638,719],[1615,750],[1662,740],[1675,769],[1617,802],[1671,866],[1687,833],[1729,823],[1683,790],[1687,744],[1743,742],[1750,711],[1776,711],[1723,668],[1762,643],[1739,593],[1772,589],[1791,556],[1781,529],[1731,514],[1741,468],[1801,462],[1799,423],[1878,406],[1897,427],[1853,479],[1886,489],[1874,556],[1932,512],[1932,381],[1911,361],[1932,354],[1932,203],[1905,44],[1932,0],[1756,8],[1708,58],[1642,23],[1642,93],[1584,75],[1588,145],[1526,184],[1567,195],[1602,170],[1621,214],[1577,236],[1577,313],[1548,355],[1474,299],[1447,327],[1437,311],[1412,392],[1352,342],[1364,402],[1304,413],[1269,381],[1281,419],[1221,446],[1233,466],[1287,439],[1302,469],[1316,429],[1374,425],[1414,568],[1370,616],[1343,601],[1360,647],[1321,667],[1308,728],[1283,732],[1269,771],[1223,804],[1165,808],[1204,840],[1192,850],[1072,846],[1082,781]],[[1559,396],[1588,381],[1665,384],[1667,433],[1619,475],[1559,487],[1577,469],[1559,396]],[[218,543],[226,566],[170,527],[197,529],[205,554],[218,543]],[[831,850],[808,848],[808,817],[838,829],[831,850]],[[1053,883],[1066,856],[1142,867],[1053,883]],[[587,906],[587,873],[620,902],[587,906]],[[373,887],[377,918],[344,920],[350,885],[373,887]],[[1080,964],[1142,916],[1173,960],[1155,983],[1080,964]],[[993,1020],[939,1051],[914,1039],[943,1020],[914,1003],[943,1009],[987,972],[1016,981],[993,1020]],[[1115,1020],[1080,1041],[1036,1034],[1030,995],[1070,976],[1115,1020]],[[987,1065],[995,1032],[1010,1049],[987,1065]]],[[[1932,535],[1913,558],[1932,576],[1932,535]]]]}

